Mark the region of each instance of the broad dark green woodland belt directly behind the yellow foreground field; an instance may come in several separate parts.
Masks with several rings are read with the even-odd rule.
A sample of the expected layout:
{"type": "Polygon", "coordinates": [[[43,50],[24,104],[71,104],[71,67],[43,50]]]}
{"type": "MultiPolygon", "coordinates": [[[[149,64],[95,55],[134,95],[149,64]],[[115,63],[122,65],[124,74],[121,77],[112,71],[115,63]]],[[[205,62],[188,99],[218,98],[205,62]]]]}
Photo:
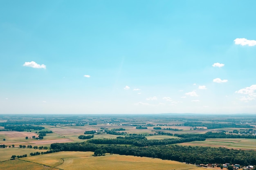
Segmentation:
{"type": "Polygon", "coordinates": [[[140,157],[156,157],[187,163],[232,163],[240,165],[256,165],[256,151],[234,150],[227,148],[192,147],[178,145],[156,145],[148,147],[124,146],[117,144],[92,144],[82,143],[56,143],[51,148],[58,151],[92,151],[97,149],[106,150],[108,153],[119,155],[134,155],[140,157]]]}

